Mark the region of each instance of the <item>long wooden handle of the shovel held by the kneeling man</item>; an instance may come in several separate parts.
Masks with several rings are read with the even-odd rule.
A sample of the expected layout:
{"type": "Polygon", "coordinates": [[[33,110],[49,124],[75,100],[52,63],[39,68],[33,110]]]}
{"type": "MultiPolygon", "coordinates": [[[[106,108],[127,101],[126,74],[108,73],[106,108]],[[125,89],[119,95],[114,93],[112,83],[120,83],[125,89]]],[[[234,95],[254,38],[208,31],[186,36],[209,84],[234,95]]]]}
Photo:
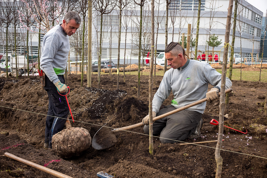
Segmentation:
{"type": "MultiPolygon", "coordinates": [[[[232,91],[232,89],[229,88],[229,89],[225,90],[225,93],[230,93],[231,91],[232,91]]],[[[221,92],[219,93],[219,96],[220,96],[220,94],[221,94],[221,92]]],[[[159,119],[161,119],[161,118],[163,118],[163,117],[170,116],[171,114],[174,114],[174,113],[176,113],[176,112],[179,112],[179,111],[182,111],[182,110],[184,110],[184,109],[190,108],[190,107],[192,107],[192,106],[198,105],[198,104],[200,104],[200,103],[202,103],[202,102],[205,102],[205,101],[207,101],[207,98],[203,98],[202,100],[195,101],[195,102],[193,102],[193,103],[191,103],[191,104],[189,104],[189,105],[183,106],[183,107],[181,107],[181,108],[178,108],[178,109],[175,109],[175,110],[173,110],[173,111],[167,112],[167,113],[162,114],[162,115],[160,115],[160,116],[154,117],[154,118],[153,118],[153,122],[156,121],[156,120],[159,120],[159,119]]],[[[134,128],[137,128],[137,127],[140,127],[140,126],[143,126],[143,125],[144,125],[143,122],[139,122],[139,123],[137,123],[137,124],[133,124],[133,125],[129,125],[129,126],[126,126],[126,127],[117,128],[117,129],[114,129],[114,130],[112,130],[112,131],[115,133],[115,132],[120,132],[120,131],[122,131],[122,130],[130,130],[130,129],[134,129],[134,128]]]]}

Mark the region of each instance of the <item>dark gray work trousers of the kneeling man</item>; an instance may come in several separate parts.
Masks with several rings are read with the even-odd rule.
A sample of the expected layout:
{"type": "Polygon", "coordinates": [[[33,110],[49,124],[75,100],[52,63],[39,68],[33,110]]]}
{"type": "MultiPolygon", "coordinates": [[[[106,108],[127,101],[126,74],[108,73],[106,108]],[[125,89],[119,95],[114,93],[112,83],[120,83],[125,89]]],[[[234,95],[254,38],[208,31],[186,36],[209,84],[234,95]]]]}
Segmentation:
{"type": "MultiPolygon", "coordinates": [[[[156,116],[175,110],[172,105],[159,110],[156,116]]],[[[153,135],[160,134],[161,143],[176,143],[187,139],[197,128],[202,114],[192,110],[180,112],[163,117],[153,123],[153,135]],[[169,140],[171,139],[171,140],[169,140]]],[[[144,132],[149,135],[149,125],[144,126],[144,132]]]]}

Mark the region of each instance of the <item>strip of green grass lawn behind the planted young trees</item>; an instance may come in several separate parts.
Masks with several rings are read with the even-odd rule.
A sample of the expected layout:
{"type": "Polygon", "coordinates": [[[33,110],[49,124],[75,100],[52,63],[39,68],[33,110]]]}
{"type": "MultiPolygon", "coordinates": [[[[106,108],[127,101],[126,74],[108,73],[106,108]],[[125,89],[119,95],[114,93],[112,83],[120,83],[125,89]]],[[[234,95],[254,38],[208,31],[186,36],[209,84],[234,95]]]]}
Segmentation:
{"type": "MultiPolygon", "coordinates": [[[[222,73],[222,69],[216,69],[219,73],[222,73]]],[[[93,74],[97,74],[97,72],[93,72],[93,74]]],[[[101,75],[109,74],[101,72],[101,75]]],[[[112,74],[117,74],[117,72],[112,72],[112,74]]],[[[129,75],[130,72],[125,71],[125,75],[129,75]]],[[[131,75],[137,75],[138,71],[131,71],[131,75]]],[[[123,72],[120,72],[120,75],[123,75],[123,72]]],[[[142,75],[149,75],[149,72],[143,72],[142,75]]],[[[154,73],[153,73],[154,75],[154,73]]],[[[157,76],[163,76],[163,70],[159,70],[156,72],[157,76]]],[[[229,75],[229,69],[227,69],[226,77],[229,75]]],[[[242,71],[242,80],[246,81],[259,81],[260,72],[256,71],[242,71]]],[[[240,80],[240,69],[233,69],[232,80],[240,80]]],[[[267,82],[267,69],[261,70],[261,82],[267,82]]]]}

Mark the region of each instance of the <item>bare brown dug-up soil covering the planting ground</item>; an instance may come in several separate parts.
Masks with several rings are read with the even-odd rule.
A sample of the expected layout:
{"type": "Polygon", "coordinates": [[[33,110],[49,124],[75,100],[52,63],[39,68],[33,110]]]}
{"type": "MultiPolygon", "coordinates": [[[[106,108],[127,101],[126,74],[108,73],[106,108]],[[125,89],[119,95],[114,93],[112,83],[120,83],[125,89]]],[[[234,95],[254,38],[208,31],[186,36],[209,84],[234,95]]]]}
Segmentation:
{"type": "MultiPolygon", "coordinates": [[[[101,89],[96,88],[96,75],[92,76],[91,88],[86,87],[87,80],[81,87],[80,78],[74,74],[67,78],[71,89],[68,101],[76,120],[72,126],[87,129],[91,137],[101,125],[107,123],[112,128],[120,128],[141,122],[148,114],[148,76],[141,76],[141,97],[137,97],[137,76],[127,75],[125,82],[120,76],[120,90],[116,90],[116,75],[112,75],[112,81],[108,75],[102,75],[101,89]]],[[[161,80],[161,76],[156,76],[153,93],[161,80]]],[[[248,133],[224,128],[222,149],[227,151],[221,151],[222,177],[267,177],[267,159],[260,158],[267,157],[267,116],[263,109],[266,88],[267,84],[262,82],[233,81],[224,125],[242,132],[247,129],[248,133]]],[[[6,82],[5,78],[0,78],[0,92],[0,177],[54,177],[3,156],[5,152],[71,177],[95,178],[99,171],[121,178],[215,176],[216,142],[161,144],[154,137],[154,155],[150,156],[149,138],[142,135],[142,127],[116,133],[119,141],[110,148],[95,150],[90,147],[80,156],[62,159],[53,150],[44,148],[48,96],[39,79],[35,76],[29,79],[19,77],[19,80],[11,78],[6,82]]],[[[169,105],[172,99],[171,94],[163,105],[169,105]]],[[[184,141],[217,140],[218,125],[209,122],[211,119],[219,120],[218,116],[219,101],[207,103],[202,115],[201,137],[184,141]]]]}

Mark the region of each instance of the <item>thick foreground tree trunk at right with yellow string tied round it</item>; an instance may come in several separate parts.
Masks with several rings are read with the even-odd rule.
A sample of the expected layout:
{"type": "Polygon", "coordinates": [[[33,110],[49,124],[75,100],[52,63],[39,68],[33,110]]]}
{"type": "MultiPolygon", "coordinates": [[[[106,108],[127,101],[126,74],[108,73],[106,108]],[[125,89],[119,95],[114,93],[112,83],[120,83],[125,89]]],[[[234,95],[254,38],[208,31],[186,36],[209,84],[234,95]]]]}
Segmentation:
{"type": "Polygon", "coordinates": [[[226,21],[226,30],[225,30],[225,43],[226,46],[223,51],[223,64],[222,64],[222,84],[221,84],[221,96],[220,96],[220,111],[219,111],[219,133],[218,133],[218,142],[215,149],[215,160],[217,163],[216,175],[215,178],[220,178],[222,176],[222,157],[220,155],[220,149],[222,147],[222,136],[223,136],[223,115],[224,115],[224,106],[225,106],[225,81],[226,81],[226,66],[227,66],[227,54],[228,54],[228,45],[230,27],[231,27],[231,14],[233,8],[233,0],[229,0],[227,21],[226,21]]]}

